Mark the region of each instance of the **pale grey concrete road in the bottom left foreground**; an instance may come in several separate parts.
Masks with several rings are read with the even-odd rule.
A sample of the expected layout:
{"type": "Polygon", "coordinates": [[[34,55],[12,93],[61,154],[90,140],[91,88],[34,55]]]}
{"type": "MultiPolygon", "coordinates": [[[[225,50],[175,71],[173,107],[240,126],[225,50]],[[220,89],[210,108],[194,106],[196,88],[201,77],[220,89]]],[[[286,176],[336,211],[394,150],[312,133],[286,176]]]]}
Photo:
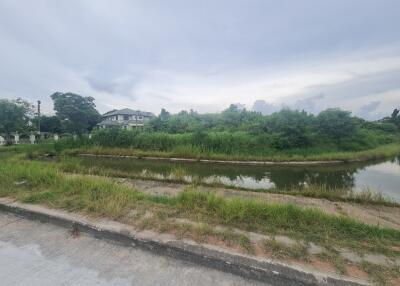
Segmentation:
{"type": "Polygon", "coordinates": [[[0,212],[0,285],[265,285],[0,212]]]}

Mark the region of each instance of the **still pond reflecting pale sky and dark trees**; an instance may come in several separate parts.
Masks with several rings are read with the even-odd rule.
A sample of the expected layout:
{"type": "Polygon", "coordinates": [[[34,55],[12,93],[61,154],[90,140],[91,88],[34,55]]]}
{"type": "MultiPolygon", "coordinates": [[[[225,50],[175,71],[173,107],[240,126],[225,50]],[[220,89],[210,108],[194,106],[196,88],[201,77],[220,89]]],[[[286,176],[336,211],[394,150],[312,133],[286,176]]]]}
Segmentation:
{"type": "Polygon", "coordinates": [[[400,157],[381,161],[322,166],[232,165],[131,158],[80,157],[80,164],[121,174],[193,178],[248,189],[288,189],[309,185],[370,189],[400,201],[400,157]]]}

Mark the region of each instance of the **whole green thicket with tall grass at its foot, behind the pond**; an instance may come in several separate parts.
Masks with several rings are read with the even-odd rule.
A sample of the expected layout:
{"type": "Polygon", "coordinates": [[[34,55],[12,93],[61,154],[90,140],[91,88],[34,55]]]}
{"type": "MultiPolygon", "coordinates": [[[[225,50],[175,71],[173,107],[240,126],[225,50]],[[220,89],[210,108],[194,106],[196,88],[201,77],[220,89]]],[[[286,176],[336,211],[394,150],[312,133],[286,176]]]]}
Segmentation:
{"type": "Polygon", "coordinates": [[[267,116],[235,105],[210,114],[193,110],[170,114],[162,109],[143,129],[100,130],[94,140],[101,146],[191,154],[357,151],[397,140],[398,121],[398,113],[371,122],[337,108],[318,115],[282,109],[267,116]]]}

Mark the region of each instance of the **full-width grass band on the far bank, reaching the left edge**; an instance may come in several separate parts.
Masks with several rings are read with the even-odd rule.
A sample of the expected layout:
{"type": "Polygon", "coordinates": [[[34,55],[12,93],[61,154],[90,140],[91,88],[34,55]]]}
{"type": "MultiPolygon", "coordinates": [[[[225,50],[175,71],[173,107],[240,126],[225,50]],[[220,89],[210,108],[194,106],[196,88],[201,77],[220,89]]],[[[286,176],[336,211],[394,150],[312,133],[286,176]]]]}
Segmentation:
{"type": "MultiPolygon", "coordinates": [[[[355,139],[354,139],[355,140],[355,139]]],[[[356,142],[355,140],[354,142],[356,142]]],[[[316,142],[304,148],[274,149],[264,135],[245,132],[209,132],[168,134],[107,130],[94,133],[92,139],[63,138],[59,142],[1,147],[0,151],[26,153],[29,157],[60,153],[130,155],[138,157],[180,157],[194,159],[242,161],[354,161],[390,157],[400,154],[400,144],[392,139],[371,138],[371,144],[357,143],[355,148],[341,148],[332,142],[316,142]]],[[[354,143],[353,142],[353,143],[354,143]]],[[[350,142],[351,143],[351,142],[350,142]]],[[[349,144],[350,144],[349,143],[349,144]]],[[[355,144],[355,143],[354,143],[355,144]]]]}

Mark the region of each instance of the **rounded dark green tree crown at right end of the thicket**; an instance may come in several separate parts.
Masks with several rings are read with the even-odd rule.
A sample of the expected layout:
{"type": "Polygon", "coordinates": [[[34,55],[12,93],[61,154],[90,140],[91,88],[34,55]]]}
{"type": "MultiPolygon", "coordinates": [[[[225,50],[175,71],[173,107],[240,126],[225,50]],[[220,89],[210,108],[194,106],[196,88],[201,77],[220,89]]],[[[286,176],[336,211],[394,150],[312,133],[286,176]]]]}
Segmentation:
{"type": "Polygon", "coordinates": [[[331,139],[349,137],[356,131],[356,123],[351,112],[338,108],[329,108],[317,116],[319,132],[331,139]]]}

